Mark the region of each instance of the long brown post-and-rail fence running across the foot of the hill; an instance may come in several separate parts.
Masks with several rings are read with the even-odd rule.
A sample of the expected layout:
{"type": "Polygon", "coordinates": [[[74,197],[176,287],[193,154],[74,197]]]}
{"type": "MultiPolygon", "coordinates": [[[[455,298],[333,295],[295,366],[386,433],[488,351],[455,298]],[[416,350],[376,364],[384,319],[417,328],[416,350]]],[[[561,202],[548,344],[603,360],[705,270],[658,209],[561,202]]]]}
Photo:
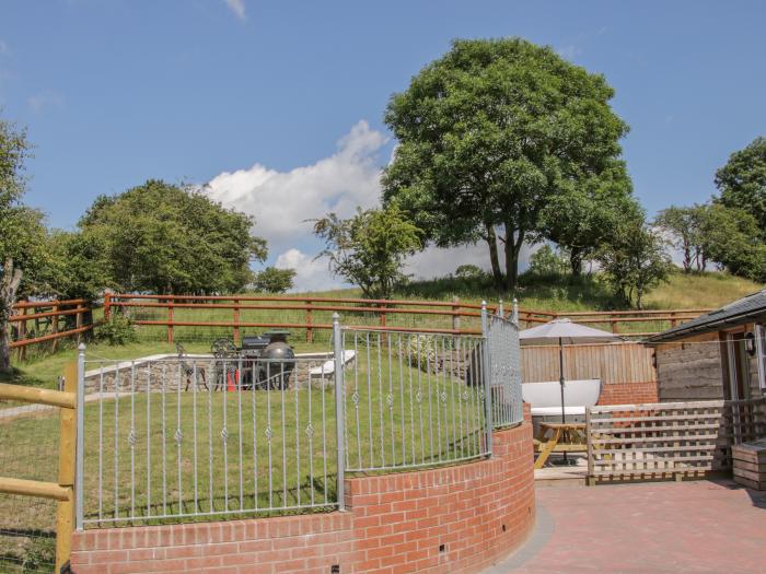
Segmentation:
{"type": "MultiPolygon", "coordinates": [[[[500,305],[489,305],[488,309],[495,313],[499,307],[500,305]]],[[[115,309],[130,311],[137,325],[164,327],[169,342],[173,342],[176,327],[231,329],[235,341],[240,340],[243,328],[283,327],[304,330],[305,340],[313,342],[316,331],[332,329],[332,313],[344,314],[345,320],[356,317],[361,321],[359,326],[367,328],[407,327],[408,330],[423,333],[475,335],[480,332],[480,308],[479,304],[464,303],[457,297],[445,302],[276,295],[107,294],[104,300],[105,318],[115,309]],[[201,312],[206,312],[207,317],[202,316],[201,312]],[[290,313],[290,318],[275,320],[275,316],[280,313],[290,313]]],[[[510,313],[510,305],[502,311],[506,314],[510,313]]],[[[566,316],[579,323],[605,327],[620,335],[642,337],[694,318],[704,311],[553,313],[521,309],[519,319],[523,327],[529,327],[566,316]],[[654,330],[620,330],[619,326],[624,324],[634,327],[649,325],[654,327],[654,330]]]]}

